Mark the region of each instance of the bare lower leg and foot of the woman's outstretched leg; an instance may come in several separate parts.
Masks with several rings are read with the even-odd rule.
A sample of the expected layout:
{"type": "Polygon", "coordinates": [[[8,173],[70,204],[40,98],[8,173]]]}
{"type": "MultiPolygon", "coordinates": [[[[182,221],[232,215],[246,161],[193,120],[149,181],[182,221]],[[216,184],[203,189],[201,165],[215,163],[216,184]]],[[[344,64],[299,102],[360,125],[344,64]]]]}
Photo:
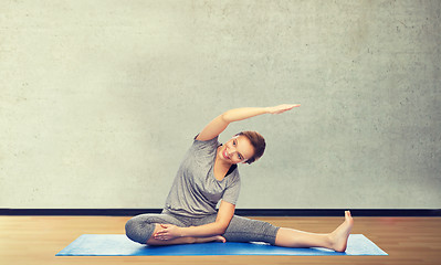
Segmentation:
{"type": "Polygon", "coordinates": [[[307,233],[292,229],[280,229],[275,245],[287,247],[326,247],[336,252],[346,251],[347,239],[354,226],[350,212],[345,212],[345,222],[329,234],[307,233]]]}

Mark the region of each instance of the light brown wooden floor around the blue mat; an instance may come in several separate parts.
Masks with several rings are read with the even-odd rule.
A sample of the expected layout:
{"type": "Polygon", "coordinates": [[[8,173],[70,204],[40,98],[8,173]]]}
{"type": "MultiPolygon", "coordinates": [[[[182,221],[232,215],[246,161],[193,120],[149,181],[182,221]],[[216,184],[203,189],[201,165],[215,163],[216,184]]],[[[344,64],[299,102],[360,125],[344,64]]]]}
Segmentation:
{"type": "MultiPolygon", "coordinates": [[[[82,234],[123,234],[129,218],[0,216],[0,264],[441,264],[441,218],[357,218],[364,234],[389,256],[56,257],[82,234]]],[[[343,218],[253,218],[279,226],[330,232],[343,218]]]]}

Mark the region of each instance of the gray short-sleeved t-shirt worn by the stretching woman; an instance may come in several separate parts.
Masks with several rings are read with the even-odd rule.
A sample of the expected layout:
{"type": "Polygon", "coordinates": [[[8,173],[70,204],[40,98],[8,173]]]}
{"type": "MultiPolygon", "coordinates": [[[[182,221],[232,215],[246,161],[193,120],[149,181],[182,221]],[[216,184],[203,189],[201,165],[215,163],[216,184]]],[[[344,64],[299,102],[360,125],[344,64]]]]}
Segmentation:
{"type": "Polygon", "coordinates": [[[216,213],[219,200],[235,204],[240,191],[239,170],[235,168],[221,181],[214,178],[213,167],[218,137],[196,140],[183,157],[166,200],[165,211],[198,218],[216,213]]]}

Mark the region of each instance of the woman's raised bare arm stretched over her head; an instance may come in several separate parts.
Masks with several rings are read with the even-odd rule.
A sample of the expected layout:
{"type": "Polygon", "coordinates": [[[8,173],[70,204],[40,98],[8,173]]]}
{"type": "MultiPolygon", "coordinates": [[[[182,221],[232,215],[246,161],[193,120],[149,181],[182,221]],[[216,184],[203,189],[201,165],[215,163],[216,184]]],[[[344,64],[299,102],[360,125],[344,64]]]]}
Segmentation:
{"type": "Polygon", "coordinates": [[[300,104],[284,104],[275,107],[246,107],[230,109],[209,123],[196,138],[197,140],[211,140],[219,136],[230,123],[248,119],[262,114],[281,114],[294,107],[300,107],[300,104]]]}

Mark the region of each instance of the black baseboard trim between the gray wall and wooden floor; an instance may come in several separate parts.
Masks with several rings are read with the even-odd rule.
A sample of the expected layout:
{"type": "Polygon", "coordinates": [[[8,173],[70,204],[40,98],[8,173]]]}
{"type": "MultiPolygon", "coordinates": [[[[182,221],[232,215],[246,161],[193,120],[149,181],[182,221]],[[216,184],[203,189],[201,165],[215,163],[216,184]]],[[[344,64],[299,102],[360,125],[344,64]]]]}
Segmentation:
{"type": "MultiPolygon", "coordinates": [[[[343,216],[350,210],[353,216],[441,216],[441,209],[237,209],[242,216],[343,216]]],[[[134,216],[160,213],[161,209],[7,209],[0,215],[55,216],[134,216]]]]}

